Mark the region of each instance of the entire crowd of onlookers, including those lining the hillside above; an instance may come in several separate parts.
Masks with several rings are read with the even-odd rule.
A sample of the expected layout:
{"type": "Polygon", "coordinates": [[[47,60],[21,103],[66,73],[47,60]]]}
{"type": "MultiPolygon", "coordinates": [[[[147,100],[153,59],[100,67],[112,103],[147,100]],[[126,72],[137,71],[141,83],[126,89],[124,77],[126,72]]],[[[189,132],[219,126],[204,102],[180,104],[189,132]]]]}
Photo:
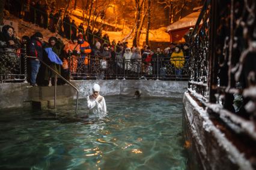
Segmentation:
{"type": "MultiPolygon", "coordinates": [[[[56,11],[55,14],[53,14],[54,8],[50,11],[48,25],[47,11],[49,11],[49,8],[46,3],[42,4],[41,1],[36,3],[34,1],[30,1],[30,3],[29,1],[22,1],[24,3],[22,5],[23,8],[17,10],[17,7],[11,5],[11,2],[13,1],[10,1],[8,9],[17,16],[22,14],[24,20],[36,23],[45,29],[50,29],[52,32],[58,26],[61,11],[56,11]],[[41,12],[37,13],[37,11],[41,12]],[[47,16],[44,16],[44,13],[47,16]]],[[[51,6],[54,7],[54,4],[51,6]]],[[[27,56],[26,71],[31,86],[37,86],[37,84],[51,86],[52,84],[55,74],[47,66],[42,65],[41,62],[47,63],[68,80],[81,74],[83,74],[82,77],[84,78],[88,74],[94,74],[98,78],[104,78],[106,74],[117,75],[123,73],[134,75],[135,77],[159,74],[161,77],[175,75],[177,78],[187,74],[187,60],[190,53],[189,45],[186,43],[180,45],[171,43],[170,47],[164,50],[157,48],[156,51],[152,51],[148,45],[141,49],[139,47],[129,47],[128,42],[115,42],[113,40],[110,43],[108,35],[105,35],[102,39],[100,29],[94,33],[98,38],[93,38],[93,34],[84,34],[87,31],[92,32],[90,26],[87,31],[84,31],[82,23],[79,27],[76,27],[74,20],[71,23],[73,26],[67,26],[66,24],[70,23],[69,15],[66,15],[61,23],[62,26],[60,28],[62,31],[59,31],[59,33],[62,33],[63,37],[70,39],[66,44],[56,37],[44,40],[40,32],[36,32],[31,37],[25,35],[22,38],[18,38],[14,28],[11,26],[5,25],[2,28],[0,52],[17,52],[15,49],[21,49],[21,56],[27,56]]],[[[5,59],[3,58],[4,55],[0,60],[2,68],[10,63],[4,62],[5,59],[17,60],[17,57],[10,57],[10,54],[5,59]]],[[[24,58],[22,57],[22,59],[24,58]]],[[[21,64],[24,65],[24,62],[21,64]]],[[[22,71],[24,72],[24,69],[22,71]]]]}

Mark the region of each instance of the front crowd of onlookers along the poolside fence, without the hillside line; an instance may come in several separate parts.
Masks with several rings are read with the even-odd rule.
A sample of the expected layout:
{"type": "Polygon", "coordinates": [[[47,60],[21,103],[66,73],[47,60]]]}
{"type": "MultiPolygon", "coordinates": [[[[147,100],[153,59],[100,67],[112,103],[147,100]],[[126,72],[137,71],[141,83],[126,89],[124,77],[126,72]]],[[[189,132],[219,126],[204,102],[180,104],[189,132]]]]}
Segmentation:
{"type": "MultiPolygon", "coordinates": [[[[181,77],[182,74],[186,74],[184,66],[189,58],[188,44],[180,46],[172,43],[171,47],[164,50],[157,48],[154,52],[148,45],[140,49],[129,47],[128,42],[120,41],[117,44],[112,41],[111,45],[97,41],[90,45],[81,33],[73,36],[66,44],[56,37],[44,41],[40,32],[31,37],[23,36],[19,40],[9,25],[2,28],[0,44],[1,50],[11,51],[20,48],[20,54],[28,57],[27,70],[32,86],[37,86],[37,82],[51,86],[55,75],[49,68],[41,65],[40,61],[46,62],[67,79],[72,79],[70,75],[79,73],[100,74],[104,78],[107,70],[112,74],[126,72],[130,75],[159,74],[162,77],[181,77]]],[[[1,58],[3,57],[2,55],[1,58]]],[[[15,56],[6,58],[11,59],[15,56]]],[[[4,64],[2,60],[0,63],[4,64]]]]}

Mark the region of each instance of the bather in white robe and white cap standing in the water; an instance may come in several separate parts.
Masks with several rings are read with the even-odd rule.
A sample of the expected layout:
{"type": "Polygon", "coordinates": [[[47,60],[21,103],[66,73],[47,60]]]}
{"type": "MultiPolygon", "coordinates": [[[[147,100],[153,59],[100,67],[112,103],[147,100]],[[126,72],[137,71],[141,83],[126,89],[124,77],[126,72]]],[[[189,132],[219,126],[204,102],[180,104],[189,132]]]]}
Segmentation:
{"type": "Polygon", "coordinates": [[[106,102],[104,97],[100,95],[99,84],[93,85],[93,94],[87,96],[87,105],[89,113],[97,114],[99,117],[106,116],[106,102]]]}

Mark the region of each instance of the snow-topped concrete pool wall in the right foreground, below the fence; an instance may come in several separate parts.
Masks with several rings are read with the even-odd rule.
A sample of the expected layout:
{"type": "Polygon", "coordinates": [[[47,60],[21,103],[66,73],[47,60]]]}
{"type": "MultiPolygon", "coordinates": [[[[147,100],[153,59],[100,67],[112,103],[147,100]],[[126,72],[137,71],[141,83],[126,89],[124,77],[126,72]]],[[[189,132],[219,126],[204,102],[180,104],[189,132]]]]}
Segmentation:
{"type": "Polygon", "coordinates": [[[203,169],[253,169],[244,154],[213,125],[206,109],[200,107],[188,92],[184,93],[183,107],[188,128],[185,138],[195,148],[203,169]]]}

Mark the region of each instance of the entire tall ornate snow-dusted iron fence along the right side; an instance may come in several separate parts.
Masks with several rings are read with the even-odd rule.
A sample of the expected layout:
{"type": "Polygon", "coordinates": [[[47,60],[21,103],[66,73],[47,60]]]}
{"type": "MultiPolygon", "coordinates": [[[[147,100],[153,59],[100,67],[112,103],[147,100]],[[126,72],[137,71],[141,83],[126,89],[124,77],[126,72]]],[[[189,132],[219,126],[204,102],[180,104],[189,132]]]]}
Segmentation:
{"type": "Polygon", "coordinates": [[[256,141],[255,15],[256,1],[206,1],[190,35],[188,91],[245,145],[256,141]]]}

